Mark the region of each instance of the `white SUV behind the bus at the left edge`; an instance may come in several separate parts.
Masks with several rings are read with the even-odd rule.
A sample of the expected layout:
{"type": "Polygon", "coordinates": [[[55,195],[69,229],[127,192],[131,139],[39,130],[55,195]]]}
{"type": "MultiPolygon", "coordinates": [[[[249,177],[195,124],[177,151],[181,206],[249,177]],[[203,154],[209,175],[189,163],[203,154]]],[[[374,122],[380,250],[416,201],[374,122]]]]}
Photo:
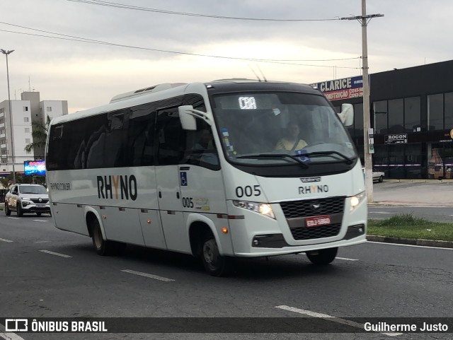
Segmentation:
{"type": "Polygon", "coordinates": [[[14,184],[5,197],[6,216],[16,211],[17,216],[24,213],[50,213],[49,194],[40,184],[14,184]]]}

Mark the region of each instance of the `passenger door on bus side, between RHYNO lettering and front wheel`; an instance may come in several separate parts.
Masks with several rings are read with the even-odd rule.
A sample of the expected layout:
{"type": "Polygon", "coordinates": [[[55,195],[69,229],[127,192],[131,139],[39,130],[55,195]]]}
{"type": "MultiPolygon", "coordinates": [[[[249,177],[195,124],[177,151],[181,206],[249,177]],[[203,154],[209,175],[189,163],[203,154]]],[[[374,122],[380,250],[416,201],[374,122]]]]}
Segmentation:
{"type": "Polygon", "coordinates": [[[178,107],[157,112],[156,184],[159,211],[168,250],[191,253],[180,197],[178,164],[183,161],[185,131],[178,117],[178,107]]]}

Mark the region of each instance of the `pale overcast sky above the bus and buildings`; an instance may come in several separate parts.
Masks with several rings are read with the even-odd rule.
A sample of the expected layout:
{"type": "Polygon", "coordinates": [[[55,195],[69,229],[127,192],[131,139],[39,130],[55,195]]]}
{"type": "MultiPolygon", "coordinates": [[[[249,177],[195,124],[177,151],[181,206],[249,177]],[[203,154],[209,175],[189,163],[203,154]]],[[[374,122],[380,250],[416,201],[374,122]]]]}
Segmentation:
{"type": "MultiPolygon", "coordinates": [[[[360,23],[328,20],[360,16],[361,0],[103,1],[208,16],[308,21],[208,18],[83,1],[0,1],[0,48],[15,50],[8,57],[11,99],[35,90],[41,100],[68,100],[71,113],[158,83],[256,78],[254,73],[268,80],[316,83],[361,74],[360,23]]],[[[373,18],[367,28],[370,73],[453,58],[452,0],[367,0],[367,14],[377,13],[384,17],[373,18]]],[[[6,61],[0,54],[0,101],[7,98],[6,61]]]]}

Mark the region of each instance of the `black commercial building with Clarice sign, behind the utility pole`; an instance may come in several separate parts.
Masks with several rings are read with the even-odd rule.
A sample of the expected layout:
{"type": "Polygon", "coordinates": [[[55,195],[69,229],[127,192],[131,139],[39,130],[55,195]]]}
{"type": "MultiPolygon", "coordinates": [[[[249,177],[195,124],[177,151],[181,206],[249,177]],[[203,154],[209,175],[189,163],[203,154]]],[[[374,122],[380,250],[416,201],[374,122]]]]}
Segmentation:
{"type": "MultiPolygon", "coordinates": [[[[370,74],[369,83],[373,167],[386,178],[453,179],[453,60],[370,74]]],[[[362,76],[314,85],[335,107],[354,105],[349,131],[363,160],[362,76]]]]}

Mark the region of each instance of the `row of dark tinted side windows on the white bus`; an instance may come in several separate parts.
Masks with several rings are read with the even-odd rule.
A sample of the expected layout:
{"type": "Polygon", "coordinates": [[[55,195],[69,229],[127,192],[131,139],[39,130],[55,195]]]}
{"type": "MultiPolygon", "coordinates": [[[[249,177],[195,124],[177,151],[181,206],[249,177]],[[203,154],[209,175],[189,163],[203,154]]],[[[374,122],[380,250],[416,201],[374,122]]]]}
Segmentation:
{"type": "Polygon", "coordinates": [[[185,141],[186,132],[180,127],[179,105],[206,110],[202,96],[185,95],[52,125],[47,170],[154,165],[155,152],[159,164],[185,163],[186,144],[189,144],[185,141]],[[158,131],[156,116],[160,107],[173,109],[159,111],[166,118],[159,120],[158,131]],[[175,154],[171,155],[172,152],[175,154]]]}

